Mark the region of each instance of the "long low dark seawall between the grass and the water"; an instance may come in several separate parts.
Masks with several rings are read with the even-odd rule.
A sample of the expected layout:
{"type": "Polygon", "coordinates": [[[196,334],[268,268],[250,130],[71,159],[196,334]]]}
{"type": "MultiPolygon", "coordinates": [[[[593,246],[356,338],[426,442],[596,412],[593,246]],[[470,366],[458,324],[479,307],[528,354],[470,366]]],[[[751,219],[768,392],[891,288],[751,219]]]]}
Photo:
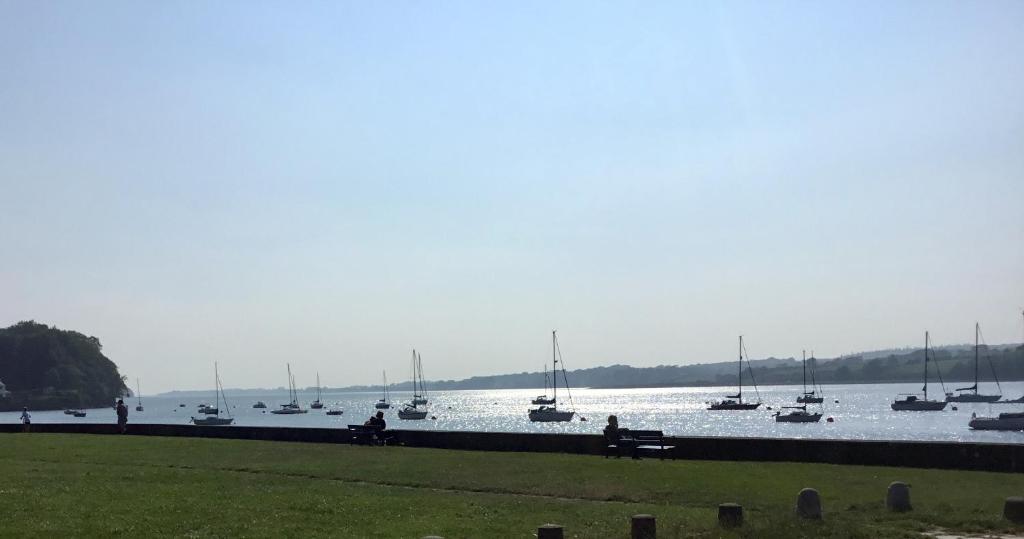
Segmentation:
{"type": "MultiPolygon", "coordinates": [[[[0,424],[0,432],[19,432],[19,424],[0,424]]],[[[36,423],[33,432],[115,434],[117,425],[96,423],[36,423]]],[[[597,434],[525,432],[461,432],[445,430],[389,430],[394,442],[409,447],[469,451],[528,451],[600,455],[604,441],[597,434]]],[[[268,426],[128,425],[135,436],[223,438],[276,442],[347,444],[348,431],[339,428],[268,426]]],[[[1024,434],[1021,434],[1024,437],[1024,434]]],[[[768,438],[675,438],[672,456],[694,460],[823,462],[923,468],[1024,471],[1024,444],[956,442],[865,442],[846,440],[791,440],[768,438]]]]}

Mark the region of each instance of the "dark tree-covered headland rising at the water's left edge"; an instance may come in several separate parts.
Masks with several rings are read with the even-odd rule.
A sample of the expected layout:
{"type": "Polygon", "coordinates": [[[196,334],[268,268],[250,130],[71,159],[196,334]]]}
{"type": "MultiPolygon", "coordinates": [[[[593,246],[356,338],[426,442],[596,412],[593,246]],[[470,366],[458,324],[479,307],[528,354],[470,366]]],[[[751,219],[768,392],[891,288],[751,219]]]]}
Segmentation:
{"type": "Polygon", "coordinates": [[[127,393],[96,337],[34,321],[0,329],[0,411],[110,406],[127,393]]]}

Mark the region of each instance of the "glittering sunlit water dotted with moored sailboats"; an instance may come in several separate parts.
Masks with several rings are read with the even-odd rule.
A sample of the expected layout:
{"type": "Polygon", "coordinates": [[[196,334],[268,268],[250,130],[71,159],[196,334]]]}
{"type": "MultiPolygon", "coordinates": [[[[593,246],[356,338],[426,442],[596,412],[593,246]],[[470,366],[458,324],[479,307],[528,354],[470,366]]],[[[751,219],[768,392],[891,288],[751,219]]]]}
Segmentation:
{"type": "MultiPolygon", "coordinates": [[[[983,390],[987,389],[983,387],[983,390]]],[[[912,392],[920,384],[851,384],[825,387],[825,402],[821,405],[825,418],[819,423],[776,423],[772,418],[779,406],[796,405],[800,386],[771,386],[761,389],[765,403],[754,411],[709,411],[708,401],[735,391],[735,387],[670,387],[645,389],[573,389],[572,401],[578,418],[569,423],[531,423],[526,417],[529,401],[540,389],[497,389],[431,391],[430,414],[436,419],[402,421],[397,417],[401,400],[410,396],[397,393],[393,407],[385,410],[388,426],[408,429],[475,430],[508,432],[587,432],[599,433],[609,414],[618,416],[618,423],[629,428],[660,429],[667,434],[699,437],[767,437],[841,440],[927,440],[958,442],[999,442],[1024,444],[1024,432],[981,431],[968,428],[971,413],[979,416],[999,412],[1021,411],[1024,405],[989,405],[950,403],[942,412],[894,412],[889,404],[896,393],[912,392]],[[835,401],[838,400],[839,403],[835,401]],[[580,421],[579,417],[587,421],[580,421]]],[[[938,389],[938,387],[936,387],[938,389]]],[[[568,405],[568,399],[559,391],[559,408],[568,405]]],[[[929,393],[931,396],[931,393],[929,393]]],[[[937,398],[941,391],[936,391],[937,398]]],[[[1024,382],[1002,384],[1005,399],[1024,395],[1024,382]]],[[[307,407],[315,395],[301,392],[300,402],[307,407]]],[[[745,397],[755,397],[753,391],[745,397]]],[[[375,412],[373,405],[380,399],[371,392],[325,392],[323,401],[328,408],[341,408],[341,416],[325,415],[325,410],[310,410],[300,415],[274,415],[269,411],[287,402],[287,391],[266,395],[231,396],[227,400],[237,425],[339,427],[349,423],[362,423],[375,412]],[[256,401],[263,401],[266,410],[253,409],[256,401]]],[[[143,398],[145,411],[135,411],[135,401],[126,401],[129,423],[186,424],[189,417],[198,415],[197,405],[211,403],[209,399],[143,398]],[[184,408],[178,407],[184,404],[184,408]]],[[[808,410],[817,409],[809,405],[808,410]]],[[[0,422],[18,422],[19,412],[0,413],[0,422]]],[[[32,412],[35,423],[87,422],[114,423],[114,410],[110,408],[88,410],[88,416],[75,418],[59,411],[32,412]]]]}

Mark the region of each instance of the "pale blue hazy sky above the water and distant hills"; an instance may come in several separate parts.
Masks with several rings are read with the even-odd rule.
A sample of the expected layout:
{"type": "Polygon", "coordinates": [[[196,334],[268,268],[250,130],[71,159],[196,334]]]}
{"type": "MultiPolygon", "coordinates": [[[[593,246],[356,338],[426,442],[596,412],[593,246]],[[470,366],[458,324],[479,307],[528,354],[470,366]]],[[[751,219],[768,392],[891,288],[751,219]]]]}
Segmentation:
{"type": "Polygon", "coordinates": [[[144,392],[1024,339],[1024,3],[0,0],[0,327],[144,392]]]}

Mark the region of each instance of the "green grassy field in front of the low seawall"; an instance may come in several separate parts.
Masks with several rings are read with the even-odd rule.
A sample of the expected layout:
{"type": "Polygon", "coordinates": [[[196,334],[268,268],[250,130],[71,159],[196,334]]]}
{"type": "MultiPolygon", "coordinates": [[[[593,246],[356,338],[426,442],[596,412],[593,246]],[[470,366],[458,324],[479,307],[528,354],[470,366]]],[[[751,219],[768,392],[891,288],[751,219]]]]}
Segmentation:
{"type": "Polygon", "coordinates": [[[829,464],[603,459],[400,447],[84,434],[0,434],[3,537],[629,537],[632,514],[658,537],[920,537],[1020,533],[1002,500],[1011,473],[829,464]],[[914,510],[885,510],[892,481],[914,510]],[[794,515],[818,489],[825,517],[794,515]],[[717,526],[717,506],[746,524],[717,526]]]}

